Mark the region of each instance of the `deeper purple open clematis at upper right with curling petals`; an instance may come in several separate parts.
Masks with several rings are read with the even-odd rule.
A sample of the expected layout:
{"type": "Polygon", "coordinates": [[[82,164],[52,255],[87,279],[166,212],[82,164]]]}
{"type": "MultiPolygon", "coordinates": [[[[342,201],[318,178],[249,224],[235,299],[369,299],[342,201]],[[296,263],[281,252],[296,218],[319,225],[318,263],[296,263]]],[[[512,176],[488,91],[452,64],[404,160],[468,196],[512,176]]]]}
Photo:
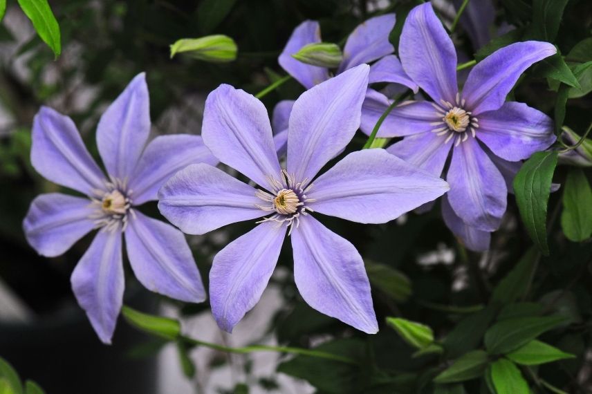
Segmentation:
{"type": "MultiPolygon", "coordinates": [[[[443,217],[472,250],[486,250],[499,227],[520,160],[553,142],[544,113],[506,96],[526,68],[556,53],[546,42],[518,42],[483,59],[470,72],[463,91],[456,84],[456,52],[432,6],[409,13],[399,46],[407,74],[434,102],[410,101],[391,112],[397,127],[380,137],[405,136],[390,153],[440,175],[452,151],[443,198],[443,217]]],[[[387,109],[386,97],[382,110],[387,109]]]]}

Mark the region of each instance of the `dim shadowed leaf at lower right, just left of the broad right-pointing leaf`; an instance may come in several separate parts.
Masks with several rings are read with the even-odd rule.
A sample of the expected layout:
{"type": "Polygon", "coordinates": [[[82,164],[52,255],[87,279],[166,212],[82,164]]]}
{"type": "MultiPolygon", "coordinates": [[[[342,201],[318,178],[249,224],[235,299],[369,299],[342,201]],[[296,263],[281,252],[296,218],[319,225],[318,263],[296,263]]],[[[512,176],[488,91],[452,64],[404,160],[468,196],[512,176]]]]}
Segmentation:
{"type": "Polygon", "coordinates": [[[488,306],[459,321],[443,341],[447,357],[459,357],[477,348],[494,319],[495,312],[495,308],[488,306]]]}

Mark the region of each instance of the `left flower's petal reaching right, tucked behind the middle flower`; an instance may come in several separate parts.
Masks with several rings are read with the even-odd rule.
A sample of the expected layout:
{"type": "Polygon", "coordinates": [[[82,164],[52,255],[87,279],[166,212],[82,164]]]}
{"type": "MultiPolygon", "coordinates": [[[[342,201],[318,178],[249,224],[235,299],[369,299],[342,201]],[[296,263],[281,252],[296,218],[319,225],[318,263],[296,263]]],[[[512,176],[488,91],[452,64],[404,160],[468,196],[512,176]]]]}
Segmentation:
{"type": "Polygon", "coordinates": [[[156,200],[158,189],[177,171],[195,163],[217,165],[200,135],[174,134],[154,138],[140,156],[129,180],[133,205],[156,200]]]}

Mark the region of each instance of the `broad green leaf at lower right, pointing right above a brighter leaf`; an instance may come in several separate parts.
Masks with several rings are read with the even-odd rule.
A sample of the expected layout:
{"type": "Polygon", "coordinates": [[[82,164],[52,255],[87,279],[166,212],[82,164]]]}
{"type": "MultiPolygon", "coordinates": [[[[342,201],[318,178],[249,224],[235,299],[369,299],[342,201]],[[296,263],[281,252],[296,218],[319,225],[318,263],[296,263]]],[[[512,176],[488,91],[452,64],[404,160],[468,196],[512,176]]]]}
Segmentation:
{"type": "Polygon", "coordinates": [[[517,317],[499,321],[485,332],[485,348],[492,355],[509,353],[564,321],[562,316],[517,317]]]}

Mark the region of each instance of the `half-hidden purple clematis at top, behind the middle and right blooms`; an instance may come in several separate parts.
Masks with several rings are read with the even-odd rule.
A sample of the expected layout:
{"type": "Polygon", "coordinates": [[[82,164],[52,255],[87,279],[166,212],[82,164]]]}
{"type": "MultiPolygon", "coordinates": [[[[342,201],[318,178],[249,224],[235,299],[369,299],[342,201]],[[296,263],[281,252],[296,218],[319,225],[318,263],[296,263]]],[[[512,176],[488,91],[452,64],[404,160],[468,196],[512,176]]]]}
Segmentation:
{"type": "MultiPolygon", "coordinates": [[[[368,19],[356,27],[347,37],[343,50],[343,60],[337,68],[336,74],[338,75],[354,66],[368,64],[379,59],[370,68],[369,84],[387,82],[405,86],[417,92],[417,84],[403,71],[403,66],[401,66],[398,57],[391,55],[391,53],[394,53],[395,48],[389,41],[389,35],[395,26],[395,21],[395,14],[386,14],[368,19]]],[[[307,89],[331,78],[331,72],[328,68],[299,62],[292,55],[297,53],[303,46],[317,42],[321,42],[319,23],[317,21],[304,21],[294,29],[278,59],[279,65],[307,89]]],[[[376,115],[373,106],[377,93],[369,88],[367,92],[368,99],[364,101],[362,106],[360,129],[364,133],[371,133],[376,121],[382,115],[382,113],[376,115]]],[[[274,118],[279,111],[288,111],[287,115],[281,115],[283,118],[290,115],[289,104],[284,104],[289,102],[290,100],[279,102],[274,110],[274,118]]],[[[291,102],[293,103],[293,101],[291,102]]],[[[281,136],[276,137],[276,139],[281,139],[281,136]]],[[[280,142],[277,142],[277,144],[280,144],[280,142]]]]}

